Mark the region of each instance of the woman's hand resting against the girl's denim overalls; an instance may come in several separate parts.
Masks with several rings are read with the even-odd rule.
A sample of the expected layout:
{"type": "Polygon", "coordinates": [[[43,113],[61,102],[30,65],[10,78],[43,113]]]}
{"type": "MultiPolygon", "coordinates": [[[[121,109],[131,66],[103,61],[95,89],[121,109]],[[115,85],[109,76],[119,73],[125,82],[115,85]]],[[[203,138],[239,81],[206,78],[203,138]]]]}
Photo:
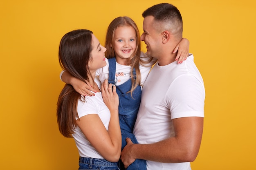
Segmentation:
{"type": "Polygon", "coordinates": [[[105,79],[105,81],[101,84],[101,92],[103,101],[108,106],[110,113],[116,110],[118,113],[119,97],[117,95],[116,86],[108,84],[108,79],[105,79]]]}

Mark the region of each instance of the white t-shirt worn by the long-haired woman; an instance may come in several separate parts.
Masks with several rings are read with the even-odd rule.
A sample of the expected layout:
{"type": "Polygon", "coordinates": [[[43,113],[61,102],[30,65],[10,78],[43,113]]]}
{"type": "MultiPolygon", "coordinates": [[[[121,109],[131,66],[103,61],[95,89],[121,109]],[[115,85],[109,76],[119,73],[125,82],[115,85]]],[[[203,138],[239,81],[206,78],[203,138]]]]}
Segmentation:
{"type": "MultiPolygon", "coordinates": [[[[101,88],[101,82],[99,81],[99,78],[95,77],[94,81],[97,83],[99,88],[101,88]]],[[[103,102],[101,92],[95,93],[95,96],[92,97],[85,97],[85,102],[79,100],[77,105],[77,112],[79,118],[89,114],[99,115],[106,130],[108,130],[110,111],[106,104],[103,102]]],[[[97,152],[97,150],[95,150],[95,148],[90,144],[90,142],[78,126],[76,126],[75,133],[72,134],[72,136],[74,137],[76,147],[78,148],[79,155],[81,157],[104,159],[99,154],[99,152],[97,152]]]]}

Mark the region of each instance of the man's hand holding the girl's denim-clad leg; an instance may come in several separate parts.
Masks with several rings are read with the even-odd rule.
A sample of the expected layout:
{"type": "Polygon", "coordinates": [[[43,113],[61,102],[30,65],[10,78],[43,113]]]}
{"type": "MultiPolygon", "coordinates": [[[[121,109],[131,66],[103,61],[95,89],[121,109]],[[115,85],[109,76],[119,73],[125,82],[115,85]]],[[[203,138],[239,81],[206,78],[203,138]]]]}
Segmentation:
{"type": "Polygon", "coordinates": [[[126,146],[121,152],[121,161],[124,163],[124,168],[132,164],[135,159],[132,157],[132,146],[134,145],[130,138],[126,138],[126,146]]]}

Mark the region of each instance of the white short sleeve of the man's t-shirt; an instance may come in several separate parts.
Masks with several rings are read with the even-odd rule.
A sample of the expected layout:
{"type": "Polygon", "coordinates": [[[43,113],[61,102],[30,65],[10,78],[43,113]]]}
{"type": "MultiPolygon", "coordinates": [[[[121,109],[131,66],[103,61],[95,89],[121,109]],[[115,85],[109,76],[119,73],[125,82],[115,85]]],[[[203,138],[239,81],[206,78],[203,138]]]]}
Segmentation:
{"type": "Polygon", "coordinates": [[[167,105],[171,119],[204,117],[204,85],[193,75],[177,77],[168,89],[167,105]]]}

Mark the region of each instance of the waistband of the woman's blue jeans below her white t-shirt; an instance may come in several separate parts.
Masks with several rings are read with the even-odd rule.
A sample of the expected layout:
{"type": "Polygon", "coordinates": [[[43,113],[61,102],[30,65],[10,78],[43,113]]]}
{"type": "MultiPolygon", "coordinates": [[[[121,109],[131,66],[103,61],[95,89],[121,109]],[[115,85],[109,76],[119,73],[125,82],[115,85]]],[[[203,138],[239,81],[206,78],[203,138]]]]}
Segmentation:
{"type": "Polygon", "coordinates": [[[101,166],[119,166],[119,162],[110,162],[106,159],[79,157],[79,163],[88,163],[101,166]]]}

